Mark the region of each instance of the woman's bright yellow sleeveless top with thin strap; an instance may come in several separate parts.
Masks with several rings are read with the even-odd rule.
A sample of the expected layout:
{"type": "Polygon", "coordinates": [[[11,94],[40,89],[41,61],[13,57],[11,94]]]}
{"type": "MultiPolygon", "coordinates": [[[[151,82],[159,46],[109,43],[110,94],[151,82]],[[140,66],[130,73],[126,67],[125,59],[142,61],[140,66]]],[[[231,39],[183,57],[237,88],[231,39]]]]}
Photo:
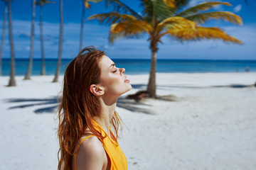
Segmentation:
{"type": "MultiPolygon", "coordinates": [[[[96,123],[94,120],[92,120],[92,123],[95,124],[95,129],[100,132],[100,134],[102,136],[106,136],[107,133],[105,132],[105,130],[103,130],[103,128],[101,128],[101,126],[96,123]]],[[[112,135],[112,137],[114,138],[114,140],[112,139],[112,137],[110,137],[109,135],[107,135],[107,137],[104,138],[104,140],[100,140],[100,142],[102,142],[102,146],[105,149],[105,152],[107,153],[107,156],[110,159],[110,170],[127,170],[128,169],[128,164],[127,164],[127,159],[124,155],[124,152],[122,152],[121,147],[119,146],[117,139],[114,137],[114,135],[112,134],[111,130],[110,133],[112,135]]],[[[82,142],[84,140],[86,140],[89,137],[92,137],[93,135],[87,136],[85,138],[83,138],[78,147],[80,147],[80,145],[82,144],[82,142]]],[[[75,154],[75,170],[77,170],[77,166],[76,166],[76,160],[78,157],[78,152],[75,154]]]]}

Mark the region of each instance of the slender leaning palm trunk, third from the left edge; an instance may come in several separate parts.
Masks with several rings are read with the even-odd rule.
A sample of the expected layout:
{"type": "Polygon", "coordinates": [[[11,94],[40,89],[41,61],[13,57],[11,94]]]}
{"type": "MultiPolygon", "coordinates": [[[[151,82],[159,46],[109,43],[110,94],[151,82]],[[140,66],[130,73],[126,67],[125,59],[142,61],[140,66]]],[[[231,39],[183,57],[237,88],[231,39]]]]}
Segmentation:
{"type": "Polygon", "coordinates": [[[33,12],[32,12],[32,21],[31,21],[31,49],[30,49],[30,56],[29,56],[29,64],[28,64],[28,72],[24,79],[31,79],[31,70],[33,65],[33,42],[35,36],[35,18],[36,18],[36,0],[33,0],[33,12]]]}

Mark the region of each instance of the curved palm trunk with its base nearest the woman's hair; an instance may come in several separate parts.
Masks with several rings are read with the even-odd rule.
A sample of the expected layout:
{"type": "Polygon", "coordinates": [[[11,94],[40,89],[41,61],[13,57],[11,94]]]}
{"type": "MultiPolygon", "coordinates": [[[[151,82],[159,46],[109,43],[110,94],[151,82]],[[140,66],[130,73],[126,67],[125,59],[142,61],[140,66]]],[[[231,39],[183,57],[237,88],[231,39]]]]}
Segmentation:
{"type": "Polygon", "coordinates": [[[59,49],[58,49],[58,64],[57,64],[57,69],[55,72],[55,77],[53,79],[53,82],[58,82],[58,75],[60,73],[62,45],[63,45],[63,0],[60,0],[60,42],[59,42],[59,49]]]}

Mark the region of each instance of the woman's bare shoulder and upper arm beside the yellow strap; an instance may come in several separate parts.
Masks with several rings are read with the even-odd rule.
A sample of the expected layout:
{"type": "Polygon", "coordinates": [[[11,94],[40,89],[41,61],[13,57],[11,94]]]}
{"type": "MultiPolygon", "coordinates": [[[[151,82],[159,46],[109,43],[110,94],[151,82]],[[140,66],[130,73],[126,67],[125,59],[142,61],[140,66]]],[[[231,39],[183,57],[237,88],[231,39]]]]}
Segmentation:
{"type": "Polygon", "coordinates": [[[97,137],[82,141],[78,149],[77,166],[79,169],[102,169],[105,164],[105,149],[97,137]]]}

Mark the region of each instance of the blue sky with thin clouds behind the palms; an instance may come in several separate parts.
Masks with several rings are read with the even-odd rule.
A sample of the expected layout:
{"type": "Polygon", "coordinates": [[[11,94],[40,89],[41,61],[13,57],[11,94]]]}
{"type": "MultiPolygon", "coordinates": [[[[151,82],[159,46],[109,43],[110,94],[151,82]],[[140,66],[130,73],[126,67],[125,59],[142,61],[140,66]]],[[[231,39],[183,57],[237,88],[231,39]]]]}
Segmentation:
{"type": "MultiPolygon", "coordinates": [[[[52,0],[55,4],[43,6],[43,38],[46,58],[58,57],[58,42],[60,30],[59,0],[52,0]]],[[[218,0],[216,0],[218,1],[218,0]]],[[[219,0],[223,1],[223,0],[219,0]]],[[[243,25],[238,26],[226,21],[209,21],[203,26],[219,27],[226,33],[238,38],[242,45],[223,42],[221,40],[201,40],[197,42],[179,42],[166,36],[159,44],[158,59],[196,59],[196,60],[256,60],[256,1],[226,0],[233,6],[216,6],[213,11],[230,11],[242,17],[243,25]]],[[[125,4],[142,13],[140,1],[122,0],[125,4]]],[[[191,0],[186,7],[203,2],[191,0]]],[[[32,0],[13,0],[12,18],[14,33],[14,49],[16,58],[28,58],[31,40],[32,0]]],[[[106,13],[112,8],[106,8],[103,2],[94,4],[85,11],[85,18],[95,13],[106,13]]],[[[41,58],[39,34],[39,6],[36,7],[36,33],[33,56],[41,58]]],[[[63,58],[73,58],[78,55],[80,38],[80,21],[82,14],[82,0],[63,0],[64,40],[63,58]]],[[[4,18],[4,2],[0,1],[0,37],[4,18]]],[[[110,26],[102,26],[97,21],[85,21],[83,47],[93,45],[104,50],[110,58],[150,59],[148,35],[139,39],[117,39],[114,45],[108,41],[110,26]]],[[[3,57],[10,57],[8,30],[4,42],[3,57]]]]}

